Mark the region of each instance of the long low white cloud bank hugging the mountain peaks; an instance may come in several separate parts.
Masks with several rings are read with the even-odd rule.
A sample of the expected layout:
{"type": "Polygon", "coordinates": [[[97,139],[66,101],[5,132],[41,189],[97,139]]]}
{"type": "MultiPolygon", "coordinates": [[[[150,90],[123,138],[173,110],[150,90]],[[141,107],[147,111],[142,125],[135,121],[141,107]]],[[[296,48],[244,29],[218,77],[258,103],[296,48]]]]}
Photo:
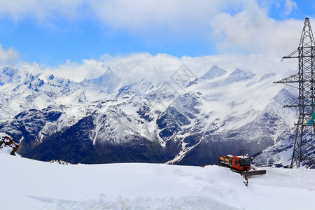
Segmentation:
{"type": "Polygon", "coordinates": [[[279,79],[297,72],[297,60],[281,62],[281,57],[272,55],[209,55],[204,57],[173,57],[166,54],[150,55],[137,53],[124,57],[104,55],[101,59],[84,59],[82,63],[67,61],[55,68],[39,64],[20,64],[20,69],[37,73],[53,73],[55,76],[69,78],[77,82],[84,78],[97,78],[109,66],[126,83],[147,79],[150,81],[170,80],[171,76],[186,64],[195,76],[202,76],[211,66],[217,65],[226,71],[243,69],[253,71],[259,76],[274,72],[279,79]]]}

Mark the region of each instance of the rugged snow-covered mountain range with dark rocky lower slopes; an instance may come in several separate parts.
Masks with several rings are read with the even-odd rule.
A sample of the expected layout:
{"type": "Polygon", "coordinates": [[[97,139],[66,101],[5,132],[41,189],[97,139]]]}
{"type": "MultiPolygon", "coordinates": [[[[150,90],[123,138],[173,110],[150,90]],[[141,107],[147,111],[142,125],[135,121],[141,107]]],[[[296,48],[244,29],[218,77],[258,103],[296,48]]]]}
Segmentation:
{"type": "Polygon", "coordinates": [[[274,73],[213,66],[199,77],[179,69],[169,80],[126,83],[108,68],[75,83],[0,71],[0,132],[27,158],[204,165],[293,134],[295,110],[281,107],[295,96],[272,84],[274,73]]]}

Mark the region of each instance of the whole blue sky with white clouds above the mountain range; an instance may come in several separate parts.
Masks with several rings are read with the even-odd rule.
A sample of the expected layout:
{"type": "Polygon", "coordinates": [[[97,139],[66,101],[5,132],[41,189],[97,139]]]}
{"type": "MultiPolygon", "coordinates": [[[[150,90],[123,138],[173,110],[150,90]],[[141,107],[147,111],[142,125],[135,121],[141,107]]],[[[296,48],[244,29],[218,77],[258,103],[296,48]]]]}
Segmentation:
{"type": "Polygon", "coordinates": [[[315,24],[314,10],[312,0],[1,0],[0,64],[65,76],[94,69],[77,80],[167,58],[273,68],[297,48],[304,18],[315,24]]]}

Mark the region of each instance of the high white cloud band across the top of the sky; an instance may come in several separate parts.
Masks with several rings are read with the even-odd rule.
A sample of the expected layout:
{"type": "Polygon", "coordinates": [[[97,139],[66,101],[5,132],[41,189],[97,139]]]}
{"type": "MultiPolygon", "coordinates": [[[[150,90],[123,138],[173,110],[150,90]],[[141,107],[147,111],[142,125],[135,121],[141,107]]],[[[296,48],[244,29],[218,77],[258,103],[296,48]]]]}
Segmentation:
{"type": "MultiPolygon", "coordinates": [[[[294,1],[286,0],[286,13],[296,7],[294,1]]],[[[209,48],[212,43],[220,53],[286,51],[295,47],[302,23],[276,21],[267,13],[255,0],[2,0],[0,3],[0,18],[8,15],[18,21],[33,17],[45,25],[58,18],[63,21],[89,18],[109,30],[106,33],[123,31],[144,42],[167,44],[168,39],[202,38],[209,48]]]]}

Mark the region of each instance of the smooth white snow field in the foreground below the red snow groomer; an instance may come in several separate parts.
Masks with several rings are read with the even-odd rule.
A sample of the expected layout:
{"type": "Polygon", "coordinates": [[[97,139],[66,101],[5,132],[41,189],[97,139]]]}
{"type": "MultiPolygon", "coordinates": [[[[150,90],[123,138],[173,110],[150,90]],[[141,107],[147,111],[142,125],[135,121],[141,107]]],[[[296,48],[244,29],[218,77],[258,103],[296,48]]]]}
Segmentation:
{"type": "Polygon", "coordinates": [[[315,170],[57,165],[0,153],[0,209],[314,209],[315,170]]]}

